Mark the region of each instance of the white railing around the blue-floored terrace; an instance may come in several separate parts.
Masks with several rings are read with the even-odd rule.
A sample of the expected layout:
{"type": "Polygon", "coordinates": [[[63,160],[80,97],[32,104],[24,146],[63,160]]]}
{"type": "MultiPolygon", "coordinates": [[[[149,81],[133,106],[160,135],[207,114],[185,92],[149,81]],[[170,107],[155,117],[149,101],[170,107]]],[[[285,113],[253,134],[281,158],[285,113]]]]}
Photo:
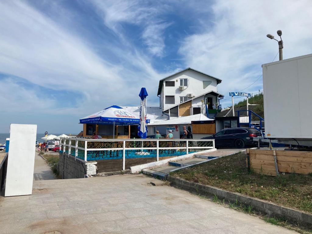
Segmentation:
{"type": "Polygon", "coordinates": [[[112,152],[114,154],[117,152],[116,154],[119,155],[119,151],[122,151],[123,170],[125,169],[125,158],[142,158],[142,156],[156,157],[156,160],[159,161],[159,154],[163,153],[169,154],[167,156],[180,156],[189,154],[193,151],[196,152],[214,148],[214,139],[60,139],[60,151],[62,151],[63,154],[68,154],[68,157],[70,154],[75,155],[75,160],[77,157],[86,162],[101,159],[92,157],[88,158],[88,152],[90,151],[98,152],[98,155],[100,152],[106,152],[107,154],[108,151],[110,154],[112,152]],[[73,141],[75,142],[73,143],[73,141]],[[97,148],[96,145],[104,147],[97,148]],[[130,157],[128,154],[129,152],[132,154],[130,157]],[[126,156],[126,153],[128,157],[126,156]]]}

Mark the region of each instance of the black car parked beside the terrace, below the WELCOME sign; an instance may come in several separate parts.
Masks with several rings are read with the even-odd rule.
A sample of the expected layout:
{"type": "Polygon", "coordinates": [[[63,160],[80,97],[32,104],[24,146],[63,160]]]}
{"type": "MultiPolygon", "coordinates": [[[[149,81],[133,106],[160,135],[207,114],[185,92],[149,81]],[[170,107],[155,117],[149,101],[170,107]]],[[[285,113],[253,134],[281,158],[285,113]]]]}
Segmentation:
{"type": "Polygon", "coordinates": [[[215,139],[215,147],[235,147],[242,149],[245,146],[256,144],[252,139],[261,136],[261,133],[254,128],[227,128],[216,134],[202,139],[215,139]]]}

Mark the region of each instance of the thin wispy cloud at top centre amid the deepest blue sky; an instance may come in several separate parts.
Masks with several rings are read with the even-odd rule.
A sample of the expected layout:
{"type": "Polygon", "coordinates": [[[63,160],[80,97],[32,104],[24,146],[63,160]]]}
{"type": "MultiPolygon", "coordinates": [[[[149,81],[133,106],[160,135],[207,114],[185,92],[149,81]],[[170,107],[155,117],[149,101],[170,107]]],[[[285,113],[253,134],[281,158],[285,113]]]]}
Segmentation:
{"type": "Polygon", "coordinates": [[[141,37],[144,39],[150,54],[162,57],[164,53],[163,33],[171,23],[159,20],[161,15],[171,10],[171,7],[163,2],[148,1],[100,1],[93,0],[97,7],[97,12],[103,17],[107,27],[112,29],[124,43],[127,38],[124,37],[122,23],[137,25],[143,28],[141,37]]]}

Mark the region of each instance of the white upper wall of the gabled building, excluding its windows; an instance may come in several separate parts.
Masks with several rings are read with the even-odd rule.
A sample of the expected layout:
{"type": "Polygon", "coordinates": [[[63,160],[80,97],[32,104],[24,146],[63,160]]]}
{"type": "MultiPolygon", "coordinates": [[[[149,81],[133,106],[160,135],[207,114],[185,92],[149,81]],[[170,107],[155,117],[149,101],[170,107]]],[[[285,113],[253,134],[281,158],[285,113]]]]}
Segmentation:
{"type": "MultiPolygon", "coordinates": [[[[188,94],[193,94],[193,96],[199,96],[203,93],[207,93],[208,91],[215,91],[217,92],[217,80],[205,76],[201,73],[192,70],[186,70],[181,73],[178,73],[174,76],[168,77],[166,80],[163,81],[163,94],[161,96],[163,100],[163,110],[166,110],[174,105],[180,103],[180,96],[188,96],[188,94]],[[188,79],[188,87],[185,87],[184,90],[179,90],[180,79],[188,79]],[[178,80],[178,81],[176,81],[178,80]],[[211,84],[203,89],[203,80],[212,81],[211,84]],[[174,86],[166,86],[166,81],[174,81],[174,86]],[[175,96],[174,104],[164,104],[165,103],[165,96],[175,96]]],[[[190,99],[190,98],[189,98],[190,99]]]]}

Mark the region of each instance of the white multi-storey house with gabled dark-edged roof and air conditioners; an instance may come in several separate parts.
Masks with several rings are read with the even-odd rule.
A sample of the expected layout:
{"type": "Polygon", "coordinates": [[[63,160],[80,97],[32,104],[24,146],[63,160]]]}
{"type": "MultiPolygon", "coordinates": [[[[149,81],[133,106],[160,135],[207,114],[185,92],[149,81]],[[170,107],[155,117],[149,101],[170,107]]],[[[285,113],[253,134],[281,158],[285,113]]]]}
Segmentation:
{"type": "Polygon", "coordinates": [[[213,109],[213,105],[218,105],[218,99],[223,98],[217,92],[217,85],[221,81],[192,68],[168,76],[159,81],[157,96],[160,98],[160,108],[175,117],[200,113],[206,115],[205,104],[208,109],[213,109]]]}

